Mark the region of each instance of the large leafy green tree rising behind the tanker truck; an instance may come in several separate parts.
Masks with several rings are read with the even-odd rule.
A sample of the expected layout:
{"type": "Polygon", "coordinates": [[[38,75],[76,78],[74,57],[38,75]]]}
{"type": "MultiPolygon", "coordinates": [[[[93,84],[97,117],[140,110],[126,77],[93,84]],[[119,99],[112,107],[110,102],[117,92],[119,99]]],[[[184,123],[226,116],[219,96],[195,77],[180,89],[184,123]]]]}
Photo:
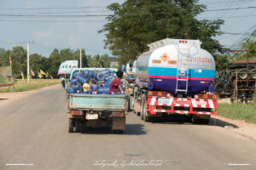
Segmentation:
{"type": "Polygon", "coordinates": [[[206,7],[198,0],[126,0],[112,3],[108,9],[108,24],[99,33],[105,32],[108,47],[120,63],[136,59],[147,50],[147,44],[167,37],[200,39],[201,47],[211,54],[224,53],[225,49],[212,37],[220,35],[223,20],[196,20],[206,7]]]}

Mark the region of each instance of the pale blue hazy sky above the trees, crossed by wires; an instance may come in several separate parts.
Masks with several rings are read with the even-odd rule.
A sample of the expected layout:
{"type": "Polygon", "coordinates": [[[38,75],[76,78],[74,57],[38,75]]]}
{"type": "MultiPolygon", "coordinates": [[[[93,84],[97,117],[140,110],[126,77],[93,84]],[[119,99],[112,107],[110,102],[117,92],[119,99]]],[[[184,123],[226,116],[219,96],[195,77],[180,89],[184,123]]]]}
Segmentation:
{"type": "MultiPolygon", "coordinates": [[[[37,53],[45,57],[49,57],[54,48],[84,48],[86,54],[111,55],[104,48],[105,35],[97,33],[107,23],[106,16],[88,15],[112,14],[106,8],[108,4],[123,2],[0,0],[0,48],[11,49],[18,45],[26,48],[26,43],[32,41],[30,54],[37,53]]],[[[200,0],[199,3],[207,5],[207,9],[197,16],[198,20],[225,21],[221,27],[224,34],[215,37],[225,47],[238,48],[237,44],[250,37],[256,29],[256,0],[200,0]]]]}

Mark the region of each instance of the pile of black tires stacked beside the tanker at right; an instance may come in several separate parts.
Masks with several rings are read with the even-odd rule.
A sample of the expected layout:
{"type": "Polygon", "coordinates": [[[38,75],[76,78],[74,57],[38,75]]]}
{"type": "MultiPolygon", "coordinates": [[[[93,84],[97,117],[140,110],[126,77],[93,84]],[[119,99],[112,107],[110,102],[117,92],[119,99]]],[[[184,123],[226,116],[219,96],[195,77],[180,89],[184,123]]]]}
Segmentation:
{"type": "MultiPolygon", "coordinates": [[[[252,69],[248,74],[249,80],[256,80],[256,69],[252,69]]],[[[248,90],[238,90],[237,97],[238,98],[252,98],[253,92],[255,89],[256,81],[249,81],[247,86],[247,70],[241,69],[237,71],[237,89],[248,89],[248,90]]],[[[236,87],[236,71],[218,71],[215,74],[214,79],[214,87],[215,92],[219,95],[219,97],[231,97],[234,94],[234,89],[236,87]]]]}

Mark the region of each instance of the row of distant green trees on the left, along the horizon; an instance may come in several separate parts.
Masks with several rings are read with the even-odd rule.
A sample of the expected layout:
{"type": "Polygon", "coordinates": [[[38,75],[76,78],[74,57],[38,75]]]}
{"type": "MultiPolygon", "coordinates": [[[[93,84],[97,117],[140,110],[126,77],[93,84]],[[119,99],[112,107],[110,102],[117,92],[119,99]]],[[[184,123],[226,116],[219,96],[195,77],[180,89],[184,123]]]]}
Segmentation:
{"type": "MultiPolygon", "coordinates": [[[[12,70],[15,77],[20,78],[21,72],[26,76],[26,49],[20,46],[14,47],[12,50],[0,48],[0,66],[9,66],[9,57],[12,60],[12,70]]],[[[70,48],[61,50],[54,49],[52,53],[49,54],[49,58],[40,54],[31,54],[30,69],[35,74],[38,74],[40,70],[43,70],[44,72],[48,72],[49,75],[57,78],[59,67],[65,60],[79,60],[80,62],[80,50],[73,51],[70,48]]],[[[110,57],[108,54],[96,54],[94,57],[91,57],[90,55],[85,54],[84,49],[82,49],[82,67],[110,67],[110,57]]]]}

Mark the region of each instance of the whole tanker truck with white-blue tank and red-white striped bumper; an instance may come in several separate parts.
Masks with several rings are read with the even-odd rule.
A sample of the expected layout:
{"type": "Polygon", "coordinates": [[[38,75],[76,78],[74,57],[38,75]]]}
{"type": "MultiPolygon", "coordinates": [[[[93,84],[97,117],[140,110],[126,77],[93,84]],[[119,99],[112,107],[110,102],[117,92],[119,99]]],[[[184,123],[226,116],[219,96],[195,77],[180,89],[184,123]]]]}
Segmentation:
{"type": "Polygon", "coordinates": [[[137,57],[131,109],[145,122],[183,114],[207,124],[217,114],[215,61],[199,40],[166,38],[137,57]]]}

